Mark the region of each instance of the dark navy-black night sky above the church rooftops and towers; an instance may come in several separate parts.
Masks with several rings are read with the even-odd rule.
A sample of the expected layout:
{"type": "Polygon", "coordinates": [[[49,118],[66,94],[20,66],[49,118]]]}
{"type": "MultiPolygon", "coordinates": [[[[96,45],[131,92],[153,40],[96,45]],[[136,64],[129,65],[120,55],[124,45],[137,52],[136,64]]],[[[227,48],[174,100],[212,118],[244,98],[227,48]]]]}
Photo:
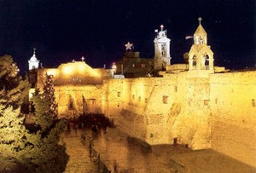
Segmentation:
{"type": "Polygon", "coordinates": [[[12,55],[22,71],[32,48],[44,66],[80,60],[93,67],[122,58],[134,43],[154,57],[154,29],[163,24],[172,39],[172,63],[183,62],[201,16],[215,65],[256,63],[255,0],[0,0],[0,55],[12,55]]]}

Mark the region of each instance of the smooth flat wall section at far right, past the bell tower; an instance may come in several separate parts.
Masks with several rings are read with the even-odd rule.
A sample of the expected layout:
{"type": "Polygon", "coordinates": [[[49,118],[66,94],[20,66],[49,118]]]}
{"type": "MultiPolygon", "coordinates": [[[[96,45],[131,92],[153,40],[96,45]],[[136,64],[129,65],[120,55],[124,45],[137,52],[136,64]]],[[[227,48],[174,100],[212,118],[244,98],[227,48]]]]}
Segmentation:
{"type": "Polygon", "coordinates": [[[256,166],[256,72],[214,74],[210,83],[212,148],[256,166]]]}

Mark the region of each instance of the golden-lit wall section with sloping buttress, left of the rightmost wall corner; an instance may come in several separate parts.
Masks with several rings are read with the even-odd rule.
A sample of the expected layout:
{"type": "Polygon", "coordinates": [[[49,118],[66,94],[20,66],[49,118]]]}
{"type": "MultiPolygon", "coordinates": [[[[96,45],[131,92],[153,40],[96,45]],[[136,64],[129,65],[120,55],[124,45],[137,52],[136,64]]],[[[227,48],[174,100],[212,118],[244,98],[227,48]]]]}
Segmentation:
{"type": "Polygon", "coordinates": [[[177,138],[189,147],[207,148],[211,134],[208,80],[191,78],[188,72],[166,78],[112,79],[105,84],[105,114],[131,136],[150,144],[172,143],[177,138]]]}

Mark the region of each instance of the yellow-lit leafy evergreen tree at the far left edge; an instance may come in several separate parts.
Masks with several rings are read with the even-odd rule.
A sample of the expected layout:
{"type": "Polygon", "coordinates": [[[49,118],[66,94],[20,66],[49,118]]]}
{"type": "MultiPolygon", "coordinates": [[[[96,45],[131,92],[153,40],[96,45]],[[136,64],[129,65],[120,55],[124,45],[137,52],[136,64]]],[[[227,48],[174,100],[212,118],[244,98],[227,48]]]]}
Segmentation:
{"type": "Polygon", "coordinates": [[[9,55],[0,57],[0,158],[20,163],[25,148],[26,128],[20,105],[27,83],[9,55]]]}

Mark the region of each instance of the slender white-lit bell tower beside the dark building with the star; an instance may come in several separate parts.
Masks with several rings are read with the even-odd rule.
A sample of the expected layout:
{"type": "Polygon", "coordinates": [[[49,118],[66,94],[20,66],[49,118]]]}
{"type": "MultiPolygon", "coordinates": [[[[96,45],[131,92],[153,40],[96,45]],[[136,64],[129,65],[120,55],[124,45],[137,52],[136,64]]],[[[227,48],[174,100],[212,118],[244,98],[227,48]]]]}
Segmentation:
{"type": "Polygon", "coordinates": [[[167,31],[164,31],[164,26],[160,26],[160,32],[157,32],[154,38],[154,69],[161,70],[168,65],[171,65],[170,41],[167,37],[167,31]]]}

